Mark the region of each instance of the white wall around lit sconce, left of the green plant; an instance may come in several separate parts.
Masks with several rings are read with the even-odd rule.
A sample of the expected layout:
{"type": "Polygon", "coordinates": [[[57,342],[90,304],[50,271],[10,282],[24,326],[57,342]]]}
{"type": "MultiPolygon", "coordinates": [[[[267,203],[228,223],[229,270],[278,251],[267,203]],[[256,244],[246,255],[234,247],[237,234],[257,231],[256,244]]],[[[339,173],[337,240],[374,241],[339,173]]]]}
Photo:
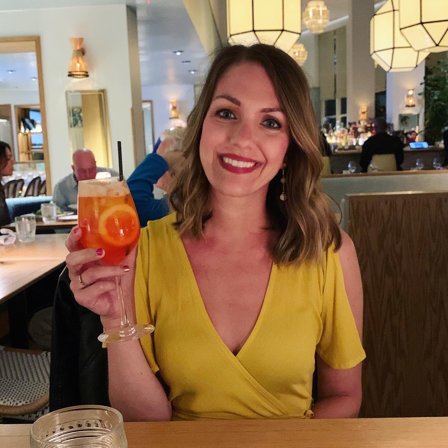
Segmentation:
{"type": "Polygon", "coordinates": [[[425,123],[425,100],[423,96],[418,94],[422,92],[423,82],[425,76],[425,61],[423,61],[412,72],[402,73],[387,73],[386,77],[386,113],[388,123],[393,123],[394,129],[399,129],[398,114],[401,113],[419,113],[420,126],[419,131],[424,129],[425,123]],[[406,94],[409,89],[415,90],[415,104],[414,108],[405,107],[406,94]]]}

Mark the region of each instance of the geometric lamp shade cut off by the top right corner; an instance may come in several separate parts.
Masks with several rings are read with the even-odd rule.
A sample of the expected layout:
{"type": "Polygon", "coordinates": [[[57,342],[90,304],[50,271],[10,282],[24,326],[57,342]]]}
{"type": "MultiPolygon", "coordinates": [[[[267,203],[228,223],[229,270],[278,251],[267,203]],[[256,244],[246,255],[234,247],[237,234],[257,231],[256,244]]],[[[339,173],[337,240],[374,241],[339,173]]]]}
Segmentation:
{"type": "Polygon", "coordinates": [[[401,0],[400,29],[414,50],[448,50],[448,1],[401,0]]]}

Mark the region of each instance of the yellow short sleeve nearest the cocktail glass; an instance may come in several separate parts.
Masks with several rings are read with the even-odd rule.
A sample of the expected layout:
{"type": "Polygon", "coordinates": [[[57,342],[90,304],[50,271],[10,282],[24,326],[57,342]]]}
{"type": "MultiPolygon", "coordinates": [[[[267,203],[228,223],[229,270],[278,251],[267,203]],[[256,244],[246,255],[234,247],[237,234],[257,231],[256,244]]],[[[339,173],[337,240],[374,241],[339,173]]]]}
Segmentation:
{"type": "MultiPolygon", "coordinates": [[[[135,268],[135,284],[134,284],[134,299],[135,299],[135,314],[137,323],[154,325],[154,319],[151,314],[150,298],[148,294],[148,280],[149,280],[149,238],[148,227],[142,228],[140,240],[138,241],[138,254],[135,268]]],[[[148,361],[151,370],[156,373],[159,366],[155,361],[154,353],[154,333],[151,337],[144,337],[140,339],[143,353],[148,361]]]]}

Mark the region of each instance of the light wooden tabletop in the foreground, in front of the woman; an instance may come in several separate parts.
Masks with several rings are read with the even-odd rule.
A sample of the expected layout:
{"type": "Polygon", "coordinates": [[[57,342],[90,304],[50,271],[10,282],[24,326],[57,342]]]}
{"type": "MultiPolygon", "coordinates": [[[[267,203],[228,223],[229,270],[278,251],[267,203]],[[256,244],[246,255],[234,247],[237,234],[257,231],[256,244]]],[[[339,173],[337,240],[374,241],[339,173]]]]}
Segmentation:
{"type": "MultiPolygon", "coordinates": [[[[128,448],[439,448],[448,418],[125,423],[128,448]]],[[[0,447],[29,448],[30,425],[0,425],[0,447]]]]}

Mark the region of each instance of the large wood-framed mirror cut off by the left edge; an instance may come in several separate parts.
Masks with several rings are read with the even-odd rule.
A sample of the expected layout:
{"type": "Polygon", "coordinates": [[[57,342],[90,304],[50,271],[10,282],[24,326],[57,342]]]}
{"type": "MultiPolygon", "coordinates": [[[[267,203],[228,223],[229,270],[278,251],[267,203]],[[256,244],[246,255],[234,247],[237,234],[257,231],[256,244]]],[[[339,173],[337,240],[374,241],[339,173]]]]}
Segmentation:
{"type": "Polygon", "coordinates": [[[50,191],[39,37],[0,38],[0,73],[0,140],[8,142],[16,162],[11,179],[23,178],[26,186],[39,175],[50,191]]]}

